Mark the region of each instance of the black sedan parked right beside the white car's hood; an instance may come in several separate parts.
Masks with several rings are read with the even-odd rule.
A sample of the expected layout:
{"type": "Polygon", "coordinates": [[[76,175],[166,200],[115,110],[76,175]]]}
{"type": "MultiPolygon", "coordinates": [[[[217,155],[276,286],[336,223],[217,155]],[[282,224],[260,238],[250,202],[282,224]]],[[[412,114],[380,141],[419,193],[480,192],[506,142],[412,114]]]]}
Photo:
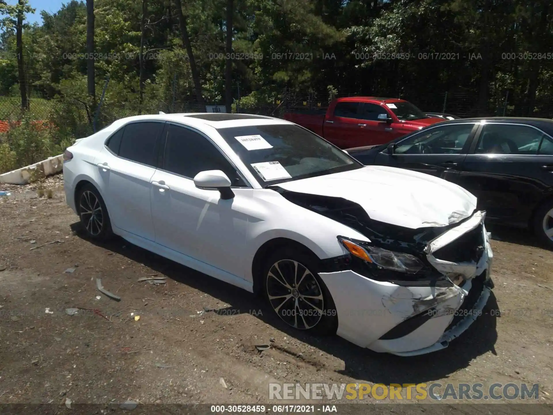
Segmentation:
{"type": "Polygon", "coordinates": [[[553,120],[462,118],[347,152],[363,164],[453,181],[478,198],[489,221],[530,227],[553,248],[553,120]]]}

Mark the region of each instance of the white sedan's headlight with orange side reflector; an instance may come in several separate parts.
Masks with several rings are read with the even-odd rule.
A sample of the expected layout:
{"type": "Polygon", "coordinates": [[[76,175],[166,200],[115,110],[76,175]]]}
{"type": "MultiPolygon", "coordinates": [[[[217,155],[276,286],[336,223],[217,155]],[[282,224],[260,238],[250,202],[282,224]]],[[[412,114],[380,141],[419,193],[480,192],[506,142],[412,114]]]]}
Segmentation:
{"type": "Polygon", "coordinates": [[[367,242],[354,242],[341,236],[338,236],[338,240],[351,255],[371,262],[378,267],[406,273],[415,273],[424,267],[424,263],[419,258],[408,253],[385,250],[368,245],[367,242]]]}

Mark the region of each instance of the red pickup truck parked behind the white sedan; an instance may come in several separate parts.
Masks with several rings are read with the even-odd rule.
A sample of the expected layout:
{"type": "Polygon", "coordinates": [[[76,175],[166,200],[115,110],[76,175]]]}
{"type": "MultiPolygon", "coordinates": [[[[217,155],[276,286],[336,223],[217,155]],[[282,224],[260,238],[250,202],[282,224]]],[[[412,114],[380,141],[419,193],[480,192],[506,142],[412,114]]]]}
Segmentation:
{"type": "Polygon", "coordinates": [[[426,116],[397,98],[348,97],[333,100],[324,113],[286,113],[284,119],[305,127],[342,149],[384,144],[442,118],[426,116]]]}

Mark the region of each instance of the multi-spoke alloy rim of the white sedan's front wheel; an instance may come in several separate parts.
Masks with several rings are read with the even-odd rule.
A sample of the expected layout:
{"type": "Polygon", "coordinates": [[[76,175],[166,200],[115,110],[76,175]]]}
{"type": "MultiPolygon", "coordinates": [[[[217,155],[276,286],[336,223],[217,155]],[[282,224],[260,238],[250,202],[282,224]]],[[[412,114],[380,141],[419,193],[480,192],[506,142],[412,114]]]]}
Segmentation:
{"type": "Polygon", "coordinates": [[[267,295],[276,314],[296,329],[315,327],[325,310],[322,289],[303,264],[280,260],[267,273],[267,295]]]}

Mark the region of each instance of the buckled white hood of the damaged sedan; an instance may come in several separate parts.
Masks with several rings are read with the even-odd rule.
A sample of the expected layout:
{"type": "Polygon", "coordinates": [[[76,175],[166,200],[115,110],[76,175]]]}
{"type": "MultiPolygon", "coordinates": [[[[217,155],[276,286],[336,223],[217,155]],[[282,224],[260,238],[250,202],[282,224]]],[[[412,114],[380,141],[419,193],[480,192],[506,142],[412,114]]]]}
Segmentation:
{"type": "Polygon", "coordinates": [[[277,186],[297,193],[346,199],[363,207],[373,220],[410,229],[455,224],[476,209],[476,197],[461,186],[387,166],[366,166],[277,186]]]}

